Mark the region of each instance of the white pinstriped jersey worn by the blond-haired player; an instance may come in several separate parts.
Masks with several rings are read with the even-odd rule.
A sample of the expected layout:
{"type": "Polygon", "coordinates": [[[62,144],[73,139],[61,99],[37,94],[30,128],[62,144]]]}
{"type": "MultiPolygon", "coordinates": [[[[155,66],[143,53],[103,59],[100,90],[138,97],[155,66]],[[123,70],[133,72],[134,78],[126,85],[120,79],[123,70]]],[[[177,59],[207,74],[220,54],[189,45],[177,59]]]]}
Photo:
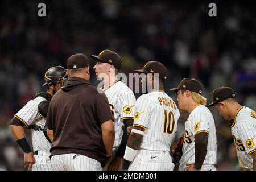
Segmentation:
{"type": "Polygon", "coordinates": [[[204,105],[198,105],[189,114],[185,122],[185,139],[182,147],[183,155],[180,159],[179,170],[183,171],[186,164],[195,164],[195,135],[207,132],[207,155],[203,164],[216,164],[217,140],[215,123],[210,110],[204,105]]]}

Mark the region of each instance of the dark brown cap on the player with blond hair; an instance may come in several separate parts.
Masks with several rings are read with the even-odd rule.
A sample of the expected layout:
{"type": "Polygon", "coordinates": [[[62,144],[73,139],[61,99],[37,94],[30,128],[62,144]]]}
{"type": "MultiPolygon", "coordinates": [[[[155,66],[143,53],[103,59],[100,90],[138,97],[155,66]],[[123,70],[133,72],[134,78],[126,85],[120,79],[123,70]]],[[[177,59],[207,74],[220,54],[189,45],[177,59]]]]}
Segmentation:
{"type": "Polygon", "coordinates": [[[200,83],[200,81],[196,80],[195,78],[184,78],[183,80],[181,80],[177,88],[172,88],[170,90],[174,90],[174,92],[177,93],[177,91],[180,89],[189,90],[191,92],[195,92],[200,95],[203,93],[202,84],[200,83]]]}

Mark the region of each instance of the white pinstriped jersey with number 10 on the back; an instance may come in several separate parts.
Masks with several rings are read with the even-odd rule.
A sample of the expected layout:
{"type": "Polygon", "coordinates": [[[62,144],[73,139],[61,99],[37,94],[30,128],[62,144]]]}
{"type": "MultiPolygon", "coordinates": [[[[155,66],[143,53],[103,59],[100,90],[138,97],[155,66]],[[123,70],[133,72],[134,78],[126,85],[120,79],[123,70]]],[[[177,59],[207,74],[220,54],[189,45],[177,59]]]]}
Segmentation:
{"type": "Polygon", "coordinates": [[[175,102],[166,93],[143,94],[135,103],[134,125],[146,129],[141,149],[170,151],[180,117],[175,102]]]}

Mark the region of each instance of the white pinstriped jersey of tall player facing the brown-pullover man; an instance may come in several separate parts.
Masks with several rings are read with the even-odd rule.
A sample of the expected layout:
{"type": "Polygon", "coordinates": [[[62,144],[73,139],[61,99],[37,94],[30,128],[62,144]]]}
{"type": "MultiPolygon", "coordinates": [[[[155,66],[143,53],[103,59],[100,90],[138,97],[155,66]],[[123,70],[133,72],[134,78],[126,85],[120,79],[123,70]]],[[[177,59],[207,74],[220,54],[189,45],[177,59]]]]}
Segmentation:
{"type": "Polygon", "coordinates": [[[115,141],[113,147],[119,147],[123,136],[123,119],[133,119],[136,98],[131,89],[122,81],[115,81],[104,90],[109,100],[114,118],[115,141]]]}

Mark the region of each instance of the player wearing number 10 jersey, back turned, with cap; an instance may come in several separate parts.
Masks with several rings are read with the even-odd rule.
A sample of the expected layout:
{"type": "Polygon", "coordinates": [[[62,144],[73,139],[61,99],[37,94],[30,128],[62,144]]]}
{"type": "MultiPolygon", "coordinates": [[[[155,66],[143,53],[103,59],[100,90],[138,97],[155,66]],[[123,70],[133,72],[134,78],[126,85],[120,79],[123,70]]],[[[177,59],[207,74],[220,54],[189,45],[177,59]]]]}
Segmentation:
{"type": "Polygon", "coordinates": [[[167,69],[158,61],[148,61],[143,69],[143,94],[135,103],[133,129],[129,136],[123,170],[173,170],[170,146],[174,142],[180,113],[175,102],[164,92],[167,69]],[[153,89],[154,88],[154,89],[153,89]]]}

